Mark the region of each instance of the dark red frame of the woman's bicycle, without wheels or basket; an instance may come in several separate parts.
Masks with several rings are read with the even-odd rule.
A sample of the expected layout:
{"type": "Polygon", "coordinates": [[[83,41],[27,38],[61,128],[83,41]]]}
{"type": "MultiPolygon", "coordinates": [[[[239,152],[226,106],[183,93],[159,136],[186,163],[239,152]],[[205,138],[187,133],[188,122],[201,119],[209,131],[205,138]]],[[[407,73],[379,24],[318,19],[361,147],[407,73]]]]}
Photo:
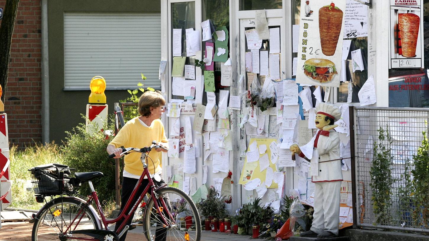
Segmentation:
{"type": "MultiPolygon", "coordinates": [[[[89,199],[85,203],[85,205],[83,205],[82,208],[79,210],[78,214],[73,219],[73,221],[70,223],[70,226],[67,227],[67,229],[66,229],[66,231],[64,233],[69,232],[69,231],[74,231],[76,229],[76,227],[79,225],[80,221],[82,220],[82,217],[83,217],[82,212],[83,212],[84,208],[87,207],[88,205],[90,205],[92,201],[94,201],[95,204],[96,204],[96,206],[97,206],[97,211],[100,214],[102,225],[104,226],[104,227],[101,227],[101,228],[103,228],[104,230],[109,230],[109,228],[108,228],[109,224],[116,223],[119,220],[121,220],[122,218],[124,218],[124,221],[122,222],[121,226],[119,226],[118,230],[115,231],[118,234],[118,236],[119,236],[119,235],[123,234],[123,231],[124,231],[124,228],[126,226],[127,221],[130,218],[133,218],[133,217],[131,217],[131,216],[133,216],[131,214],[133,214],[134,211],[136,211],[136,209],[138,208],[139,203],[142,202],[143,198],[145,197],[145,195],[149,191],[150,191],[150,194],[151,194],[151,199],[154,201],[154,207],[156,208],[157,212],[161,214],[163,212],[163,210],[164,210],[164,212],[167,212],[167,216],[169,216],[170,219],[174,220],[174,217],[170,213],[166,202],[164,202],[164,199],[158,199],[158,195],[155,193],[156,187],[155,187],[154,181],[152,180],[152,175],[151,175],[151,173],[148,170],[148,164],[146,163],[146,159],[147,158],[146,157],[143,158],[143,156],[146,156],[146,154],[142,153],[142,157],[140,157],[140,159],[142,160],[142,163],[143,163],[143,173],[140,176],[139,181],[136,184],[136,187],[134,187],[134,190],[131,193],[130,198],[128,199],[128,201],[125,204],[124,208],[122,208],[122,211],[118,215],[117,218],[115,218],[113,220],[106,220],[106,217],[104,216],[103,210],[102,210],[101,205],[100,205],[100,201],[98,200],[97,192],[94,190],[94,186],[92,185],[92,182],[88,181],[90,189],[91,189],[91,195],[89,196],[89,199]],[[140,194],[139,199],[137,199],[137,201],[133,204],[133,207],[130,209],[130,211],[126,214],[125,213],[126,210],[130,207],[130,205],[132,205],[131,202],[133,201],[134,197],[136,196],[137,190],[139,190],[139,186],[142,184],[142,181],[143,181],[143,179],[145,177],[148,178],[148,185],[145,187],[145,190],[143,190],[143,193],[140,194]],[[160,205],[158,205],[157,201],[160,202],[160,204],[161,204],[161,206],[162,206],[163,209],[160,209],[160,205]],[[76,219],[79,216],[80,216],[79,220],[77,220],[76,225],[72,229],[72,226],[74,225],[76,219]]],[[[166,227],[169,227],[169,224],[167,223],[167,220],[165,219],[164,215],[160,215],[160,217],[161,217],[161,220],[164,223],[164,225],[166,227]]],[[[95,239],[95,238],[76,238],[76,237],[73,237],[73,239],[88,240],[88,241],[98,241],[98,239],[95,239]]]]}

